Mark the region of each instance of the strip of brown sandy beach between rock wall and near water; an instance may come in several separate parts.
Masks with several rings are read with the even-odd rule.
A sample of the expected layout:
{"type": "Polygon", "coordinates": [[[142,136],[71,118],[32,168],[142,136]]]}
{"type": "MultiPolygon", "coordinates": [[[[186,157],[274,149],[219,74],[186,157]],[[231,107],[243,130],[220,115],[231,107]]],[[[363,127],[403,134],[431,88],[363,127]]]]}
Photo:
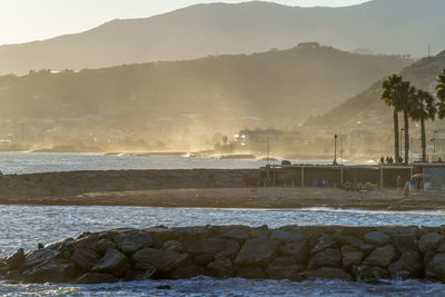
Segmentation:
{"type": "Polygon", "coordinates": [[[445,191],[395,189],[356,192],[336,188],[208,188],[87,192],[76,196],[1,198],[2,205],[141,206],[206,208],[360,208],[372,210],[445,209],[445,191]]]}

